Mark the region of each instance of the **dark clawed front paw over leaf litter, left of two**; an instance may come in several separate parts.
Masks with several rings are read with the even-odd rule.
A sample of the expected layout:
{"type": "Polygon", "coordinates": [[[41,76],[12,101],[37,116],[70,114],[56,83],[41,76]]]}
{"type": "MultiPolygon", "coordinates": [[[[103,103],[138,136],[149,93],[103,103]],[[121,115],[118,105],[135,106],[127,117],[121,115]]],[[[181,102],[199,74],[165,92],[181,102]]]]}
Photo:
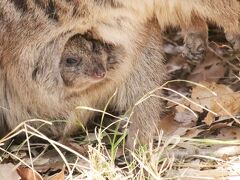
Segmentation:
{"type": "Polygon", "coordinates": [[[207,50],[207,38],[200,33],[188,33],[185,37],[185,44],[182,51],[184,57],[191,60],[201,60],[207,50]]]}

